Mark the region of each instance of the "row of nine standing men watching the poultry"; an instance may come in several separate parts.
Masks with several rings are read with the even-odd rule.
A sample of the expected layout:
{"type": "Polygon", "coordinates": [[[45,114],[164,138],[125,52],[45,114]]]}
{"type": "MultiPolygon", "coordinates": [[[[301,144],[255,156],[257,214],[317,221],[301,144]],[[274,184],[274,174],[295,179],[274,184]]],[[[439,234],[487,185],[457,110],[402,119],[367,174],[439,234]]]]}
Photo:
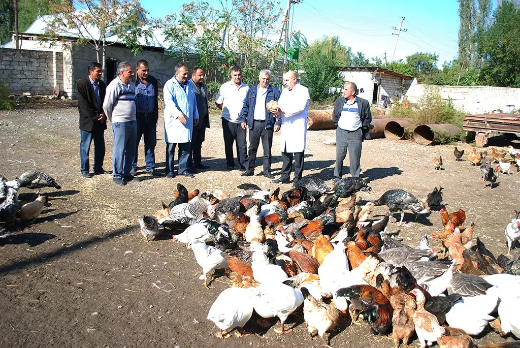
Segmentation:
{"type": "MultiPolygon", "coordinates": [[[[88,154],[94,141],[95,174],[113,175],[117,185],[140,181],[137,174],[137,149],[144,137],[147,173],[162,174],[155,169],[157,144],[158,82],[150,75],[149,63],[139,60],[136,75],[130,62],[121,62],[118,77],[106,86],[101,81],[101,66],[91,63],[89,75],[77,83],[80,111],[81,173],[89,178],[88,154]],[[105,157],[104,132],[107,118],[112,123],[114,147],[112,171],[103,169],[105,157]]],[[[230,81],[220,86],[215,98],[222,110],[222,128],[228,170],[236,169],[233,144],[236,144],[237,161],[241,175],[254,175],[256,153],[260,141],[264,152],[262,175],[274,183],[289,183],[294,162],[293,186],[302,177],[307,138],[308,89],[298,82],[298,74],[289,71],[283,75],[285,88],[270,84],[271,72],[262,70],[258,84],[249,87],[242,81],[239,67],[230,69],[230,81]],[[246,133],[249,128],[249,149],[246,133]],[[282,170],[279,178],[271,173],[271,147],[273,134],[280,131],[282,170]]],[[[166,177],[173,178],[175,149],[178,145],[178,175],[193,177],[202,164],[201,147],[205,128],[209,128],[207,87],[203,83],[204,71],[194,68],[188,80],[188,69],[175,66],[174,76],[163,87],[164,138],[166,141],[166,177]]],[[[369,138],[371,114],[368,101],[356,97],[357,87],[346,83],[343,97],[336,99],[333,121],[336,130],[336,166],[334,182],[343,175],[343,160],[348,149],[350,174],[359,177],[362,141],[369,138]]]]}

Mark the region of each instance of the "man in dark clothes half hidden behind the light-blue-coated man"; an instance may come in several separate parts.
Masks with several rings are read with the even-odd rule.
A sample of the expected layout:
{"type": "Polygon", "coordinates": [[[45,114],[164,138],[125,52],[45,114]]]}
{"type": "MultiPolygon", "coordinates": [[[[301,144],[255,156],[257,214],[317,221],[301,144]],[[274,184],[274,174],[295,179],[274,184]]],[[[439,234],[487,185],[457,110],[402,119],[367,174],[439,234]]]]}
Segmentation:
{"type": "Polygon", "coordinates": [[[206,128],[210,127],[210,114],[207,106],[207,86],[204,83],[204,71],[201,68],[193,68],[190,83],[193,85],[193,92],[195,92],[197,98],[199,123],[193,126],[188,165],[191,169],[207,169],[209,166],[202,164],[201,149],[206,136],[206,128]]]}

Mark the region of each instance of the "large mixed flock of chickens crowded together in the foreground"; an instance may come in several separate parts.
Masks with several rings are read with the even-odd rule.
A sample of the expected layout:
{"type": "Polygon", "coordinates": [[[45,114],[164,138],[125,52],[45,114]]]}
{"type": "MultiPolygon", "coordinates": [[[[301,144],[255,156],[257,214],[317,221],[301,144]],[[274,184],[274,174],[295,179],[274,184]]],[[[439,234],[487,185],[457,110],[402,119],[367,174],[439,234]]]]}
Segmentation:
{"type": "MultiPolygon", "coordinates": [[[[431,237],[441,240],[442,255],[426,235],[411,247],[385,233],[390,213],[401,213],[400,225],[404,211],[417,218],[440,208],[442,187],[424,200],[388,190],[365,205],[358,204],[359,191],[371,188],[352,177],[330,189],[307,176],[282,194],[253,184],[238,188],[242,192],[230,197],[178,184],[174,201],[138,219],[147,241],[163,228],[182,231],[173,240],[193,251],[205,287],[212,272],[224,270],[230,288],[207,315],[220,329],[217,337],[235,328],[237,336],[248,335],[243,327],[253,311],[258,325],[269,327],[266,318],[278,317],[276,332],[288,333],[285,320],[303,304],[310,335],[322,339],[347,316],[356,324],[368,321],[374,334],[392,334],[396,347],[414,332],[422,347],[470,347],[471,336],[488,324],[520,338],[520,259],[495,257],[478,237],[472,246],[475,225],[466,223],[463,210],[439,210],[445,228],[431,237]],[[370,220],[378,205],[390,213],[370,220]]],[[[519,215],[505,228],[509,251],[520,239],[519,215]]]]}

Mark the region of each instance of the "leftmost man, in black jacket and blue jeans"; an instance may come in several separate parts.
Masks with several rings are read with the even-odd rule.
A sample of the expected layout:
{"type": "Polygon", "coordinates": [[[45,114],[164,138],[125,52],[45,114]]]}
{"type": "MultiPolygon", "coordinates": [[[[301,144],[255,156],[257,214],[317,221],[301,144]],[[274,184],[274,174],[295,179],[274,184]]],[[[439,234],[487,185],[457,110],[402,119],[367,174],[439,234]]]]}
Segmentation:
{"type": "Polygon", "coordinates": [[[88,65],[88,76],[76,84],[77,109],[80,112],[80,158],[81,175],[91,177],[89,173],[88,153],[90,144],[94,140],[94,165],[95,174],[112,174],[103,169],[105,160],[105,130],[107,129],[107,117],[103,113],[103,100],[107,85],[101,80],[101,65],[92,62],[88,65]]]}

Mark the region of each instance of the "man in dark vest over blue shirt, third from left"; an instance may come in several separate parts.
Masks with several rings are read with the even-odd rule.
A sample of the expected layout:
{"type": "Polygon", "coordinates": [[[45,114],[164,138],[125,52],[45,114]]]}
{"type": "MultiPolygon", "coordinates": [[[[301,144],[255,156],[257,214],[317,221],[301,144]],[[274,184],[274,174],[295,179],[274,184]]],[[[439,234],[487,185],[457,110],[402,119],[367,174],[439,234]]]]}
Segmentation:
{"type": "Polygon", "coordinates": [[[155,169],[155,145],[157,145],[157,120],[159,119],[157,79],[150,75],[150,65],[144,59],[137,62],[135,71],[137,145],[130,174],[132,176],[137,174],[137,150],[139,140],[144,135],[146,172],[161,176],[161,173],[155,169]]]}

